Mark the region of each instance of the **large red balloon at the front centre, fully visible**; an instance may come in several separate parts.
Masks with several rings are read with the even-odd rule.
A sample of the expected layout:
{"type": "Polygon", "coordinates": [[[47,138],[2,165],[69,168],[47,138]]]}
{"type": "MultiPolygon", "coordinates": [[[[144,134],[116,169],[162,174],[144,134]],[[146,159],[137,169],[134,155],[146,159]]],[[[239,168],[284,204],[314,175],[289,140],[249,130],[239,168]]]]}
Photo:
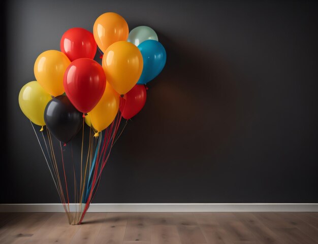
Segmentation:
{"type": "Polygon", "coordinates": [[[63,81],[66,95],[83,113],[91,111],[104,94],[106,76],[103,67],[89,58],[79,58],[66,69],[63,81]]]}

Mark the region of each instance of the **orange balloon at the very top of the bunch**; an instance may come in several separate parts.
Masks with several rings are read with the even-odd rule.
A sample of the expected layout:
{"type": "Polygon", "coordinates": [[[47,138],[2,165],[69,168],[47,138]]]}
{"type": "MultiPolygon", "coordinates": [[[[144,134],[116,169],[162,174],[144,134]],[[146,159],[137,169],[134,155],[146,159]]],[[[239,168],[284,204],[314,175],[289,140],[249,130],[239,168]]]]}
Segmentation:
{"type": "Polygon", "coordinates": [[[93,34],[98,47],[105,52],[113,43],[128,39],[128,24],[119,14],[105,13],[95,21],[93,34]]]}

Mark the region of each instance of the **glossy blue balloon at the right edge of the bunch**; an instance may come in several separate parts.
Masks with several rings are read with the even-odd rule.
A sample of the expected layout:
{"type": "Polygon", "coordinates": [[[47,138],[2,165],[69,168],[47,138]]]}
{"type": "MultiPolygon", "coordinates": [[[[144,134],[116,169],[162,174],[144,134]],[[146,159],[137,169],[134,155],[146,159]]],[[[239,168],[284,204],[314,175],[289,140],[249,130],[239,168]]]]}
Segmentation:
{"type": "Polygon", "coordinates": [[[146,84],[163,70],[167,54],[164,46],[155,40],[147,40],[138,45],[144,66],[137,84],[146,84]]]}

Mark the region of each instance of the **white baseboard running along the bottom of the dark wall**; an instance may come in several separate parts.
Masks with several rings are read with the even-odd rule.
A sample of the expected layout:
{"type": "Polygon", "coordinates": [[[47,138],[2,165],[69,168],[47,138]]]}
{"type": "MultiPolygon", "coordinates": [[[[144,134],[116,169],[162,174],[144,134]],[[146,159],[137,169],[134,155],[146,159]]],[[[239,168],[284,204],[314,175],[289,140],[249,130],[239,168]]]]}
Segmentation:
{"type": "MultiPolygon", "coordinates": [[[[76,205],[70,204],[71,211],[76,205]]],[[[60,203],[0,204],[0,212],[64,212],[60,203]]],[[[318,212],[318,203],[92,203],[88,212],[318,212]]]]}

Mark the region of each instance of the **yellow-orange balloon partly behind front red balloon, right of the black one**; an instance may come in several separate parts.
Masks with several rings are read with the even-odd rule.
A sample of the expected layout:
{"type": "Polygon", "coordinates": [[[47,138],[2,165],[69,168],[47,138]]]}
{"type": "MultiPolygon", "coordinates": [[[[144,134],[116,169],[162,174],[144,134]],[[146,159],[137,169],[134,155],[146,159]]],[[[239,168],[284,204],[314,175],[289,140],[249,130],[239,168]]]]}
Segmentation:
{"type": "Polygon", "coordinates": [[[119,94],[109,85],[101,100],[88,113],[91,125],[98,131],[106,129],[115,119],[119,109],[119,94]]]}

